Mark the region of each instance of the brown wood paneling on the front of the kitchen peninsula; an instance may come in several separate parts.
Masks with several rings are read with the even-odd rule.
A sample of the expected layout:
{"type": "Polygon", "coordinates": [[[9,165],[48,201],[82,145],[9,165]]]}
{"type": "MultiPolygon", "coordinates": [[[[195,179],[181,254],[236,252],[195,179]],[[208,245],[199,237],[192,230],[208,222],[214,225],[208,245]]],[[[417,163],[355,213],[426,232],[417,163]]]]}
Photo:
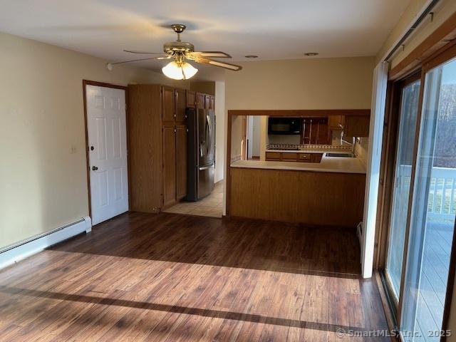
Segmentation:
{"type": "Polygon", "coordinates": [[[356,227],[363,220],[366,175],[231,167],[230,214],[356,227]]]}

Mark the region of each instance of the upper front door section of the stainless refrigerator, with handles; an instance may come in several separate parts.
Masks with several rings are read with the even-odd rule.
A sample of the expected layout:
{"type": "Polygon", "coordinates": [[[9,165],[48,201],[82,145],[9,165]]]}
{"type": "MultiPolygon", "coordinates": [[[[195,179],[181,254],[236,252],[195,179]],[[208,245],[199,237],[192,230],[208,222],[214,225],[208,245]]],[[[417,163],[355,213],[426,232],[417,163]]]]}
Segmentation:
{"type": "Polygon", "coordinates": [[[214,162],[214,111],[198,110],[198,165],[214,162]]]}

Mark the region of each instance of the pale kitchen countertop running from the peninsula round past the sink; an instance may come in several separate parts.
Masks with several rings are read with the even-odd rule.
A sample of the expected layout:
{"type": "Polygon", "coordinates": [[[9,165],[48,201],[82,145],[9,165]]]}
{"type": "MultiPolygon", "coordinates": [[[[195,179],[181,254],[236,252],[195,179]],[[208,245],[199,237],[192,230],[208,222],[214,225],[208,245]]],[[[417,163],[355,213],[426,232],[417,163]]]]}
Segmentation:
{"type": "MultiPolygon", "coordinates": [[[[307,152],[301,150],[299,152],[307,152]]],[[[312,150],[318,153],[318,150],[312,150]]],[[[298,151],[275,151],[266,150],[266,152],[298,152],[298,151]]],[[[323,151],[322,151],[323,152],[323,151]]],[[[347,157],[326,157],[326,152],[323,152],[321,162],[272,162],[264,160],[238,160],[232,162],[231,167],[243,167],[252,169],[271,169],[271,170],[298,170],[298,171],[316,171],[316,172],[338,172],[338,173],[361,173],[366,174],[366,167],[358,158],[347,157]]],[[[334,150],[331,152],[338,152],[334,150]]],[[[347,151],[345,151],[347,152],[347,151]]],[[[320,152],[321,153],[321,152],[320,152]]]]}

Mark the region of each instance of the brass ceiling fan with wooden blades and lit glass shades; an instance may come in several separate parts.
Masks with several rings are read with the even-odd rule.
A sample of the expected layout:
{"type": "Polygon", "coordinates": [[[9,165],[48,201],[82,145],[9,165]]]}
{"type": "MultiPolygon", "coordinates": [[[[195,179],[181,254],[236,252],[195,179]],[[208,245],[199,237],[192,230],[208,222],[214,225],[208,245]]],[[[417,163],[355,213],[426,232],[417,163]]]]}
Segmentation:
{"type": "Polygon", "coordinates": [[[115,63],[108,63],[106,66],[108,70],[113,70],[115,64],[131,63],[138,61],[148,61],[152,59],[172,59],[170,63],[162,68],[165,76],[173,78],[175,80],[187,80],[195,76],[198,72],[198,69],[192,66],[189,61],[195,61],[196,63],[209,64],[211,66],[219,66],[220,68],[225,68],[231,71],[239,71],[242,69],[242,66],[237,66],[231,63],[225,63],[220,61],[215,61],[212,58],[231,58],[228,53],[222,51],[195,51],[195,46],[192,43],[187,43],[180,40],[180,33],[185,30],[185,25],[182,24],[173,24],[171,28],[177,33],[177,40],[170,43],[165,43],[163,46],[163,53],[156,52],[144,52],[144,51],[130,51],[124,50],[129,53],[138,53],[146,55],[161,55],[150,58],[140,58],[133,59],[131,61],[122,61],[115,63]]]}

